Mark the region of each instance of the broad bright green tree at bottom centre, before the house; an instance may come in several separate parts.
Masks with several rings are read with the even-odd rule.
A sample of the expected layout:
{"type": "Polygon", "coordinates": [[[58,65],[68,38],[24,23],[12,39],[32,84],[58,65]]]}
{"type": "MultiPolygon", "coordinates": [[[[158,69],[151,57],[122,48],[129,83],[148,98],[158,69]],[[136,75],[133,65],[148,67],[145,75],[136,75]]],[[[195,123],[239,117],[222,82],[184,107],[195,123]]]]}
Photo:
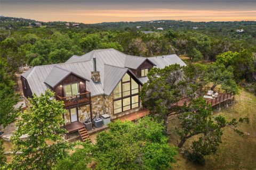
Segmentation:
{"type": "Polygon", "coordinates": [[[116,121],[109,131],[97,135],[93,157],[95,169],[167,169],[177,155],[167,144],[164,126],[150,117],[138,123],[116,121]]]}

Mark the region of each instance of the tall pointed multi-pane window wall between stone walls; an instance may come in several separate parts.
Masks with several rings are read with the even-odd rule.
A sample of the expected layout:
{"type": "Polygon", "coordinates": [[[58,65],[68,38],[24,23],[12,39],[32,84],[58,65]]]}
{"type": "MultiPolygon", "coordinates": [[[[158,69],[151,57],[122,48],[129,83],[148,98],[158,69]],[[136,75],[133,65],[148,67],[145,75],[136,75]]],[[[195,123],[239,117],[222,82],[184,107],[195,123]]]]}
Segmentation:
{"type": "Polygon", "coordinates": [[[125,74],[113,91],[114,114],[139,107],[139,84],[125,74]]]}

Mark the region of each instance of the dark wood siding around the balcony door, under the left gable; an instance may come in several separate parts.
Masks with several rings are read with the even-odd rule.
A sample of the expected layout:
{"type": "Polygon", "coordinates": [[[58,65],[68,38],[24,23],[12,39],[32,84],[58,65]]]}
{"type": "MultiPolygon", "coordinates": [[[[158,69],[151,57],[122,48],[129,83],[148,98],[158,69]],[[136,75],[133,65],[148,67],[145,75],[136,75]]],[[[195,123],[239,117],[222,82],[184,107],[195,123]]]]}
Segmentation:
{"type": "Polygon", "coordinates": [[[70,74],[66,79],[64,79],[62,82],[60,82],[53,91],[55,92],[55,95],[58,95],[60,97],[64,97],[64,90],[63,85],[69,84],[69,83],[78,83],[79,86],[79,92],[82,94],[86,90],[86,81],[84,79],[81,79],[77,77],[74,74],[70,74]]]}

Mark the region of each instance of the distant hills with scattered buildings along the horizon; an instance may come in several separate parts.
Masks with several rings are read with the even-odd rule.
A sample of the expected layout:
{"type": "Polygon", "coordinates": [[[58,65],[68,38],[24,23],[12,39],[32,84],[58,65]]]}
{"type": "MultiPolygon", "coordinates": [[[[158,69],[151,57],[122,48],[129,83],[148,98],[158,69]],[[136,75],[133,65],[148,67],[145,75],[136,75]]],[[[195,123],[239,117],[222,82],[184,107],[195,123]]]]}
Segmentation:
{"type": "Polygon", "coordinates": [[[40,23],[44,27],[57,27],[57,28],[87,28],[87,29],[138,29],[141,31],[161,31],[166,29],[207,29],[207,28],[234,28],[242,29],[248,25],[256,25],[256,21],[223,21],[223,22],[191,22],[182,20],[156,20],[156,21],[137,21],[137,22],[102,22],[95,24],[85,24],[77,22],[42,22],[23,18],[13,18],[8,16],[0,16],[1,29],[14,29],[17,27],[36,27],[35,23],[40,23]],[[162,29],[157,29],[162,28],[162,29]]]}

